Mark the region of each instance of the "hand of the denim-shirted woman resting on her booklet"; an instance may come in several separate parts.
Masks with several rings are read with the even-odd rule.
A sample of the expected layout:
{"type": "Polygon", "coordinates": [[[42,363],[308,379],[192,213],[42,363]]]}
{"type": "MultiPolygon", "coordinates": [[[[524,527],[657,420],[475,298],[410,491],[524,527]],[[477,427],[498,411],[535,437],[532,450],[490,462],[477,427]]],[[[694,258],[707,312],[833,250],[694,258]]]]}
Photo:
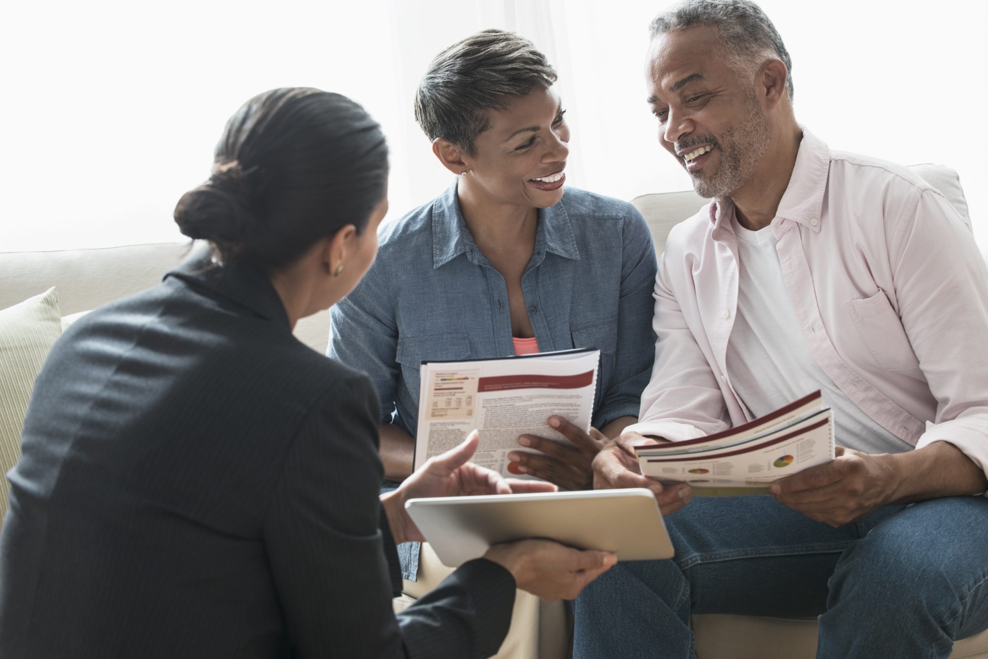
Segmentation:
{"type": "Polygon", "coordinates": [[[586,433],[561,416],[550,416],[548,424],[566,437],[572,446],[536,435],[522,435],[518,443],[542,455],[513,451],[508,454],[513,463],[508,470],[544,478],[565,489],[593,488],[594,458],[607,445],[608,438],[597,428],[591,428],[586,433]]]}

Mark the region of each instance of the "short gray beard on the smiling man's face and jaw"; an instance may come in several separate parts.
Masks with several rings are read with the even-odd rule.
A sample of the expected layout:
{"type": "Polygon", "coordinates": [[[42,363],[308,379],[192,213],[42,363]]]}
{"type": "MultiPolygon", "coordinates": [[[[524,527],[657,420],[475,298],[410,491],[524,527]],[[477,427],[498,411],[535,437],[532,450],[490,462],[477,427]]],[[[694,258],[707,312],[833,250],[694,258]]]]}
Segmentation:
{"type": "Polygon", "coordinates": [[[751,178],[755,166],[769,150],[772,141],[765,114],[754,95],[749,97],[751,115],[743,122],[725,131],[718,138],[720,166],[712,177],[704,179],[702,173],[694,176],[693,186],[701,197],[730,196],[751,178]]]}

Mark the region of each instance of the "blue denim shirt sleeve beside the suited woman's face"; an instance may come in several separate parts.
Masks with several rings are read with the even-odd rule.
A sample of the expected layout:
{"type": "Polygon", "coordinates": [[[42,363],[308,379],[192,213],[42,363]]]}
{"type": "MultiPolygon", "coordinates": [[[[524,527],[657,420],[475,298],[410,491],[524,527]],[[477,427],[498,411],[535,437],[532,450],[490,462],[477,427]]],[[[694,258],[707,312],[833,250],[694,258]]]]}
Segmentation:
{"type": "Polygon", "coordinates": [[[374,261],[361,283],[330,310],[326,354],[371,378],[380,401],[380,422],[390,423],[400,372],[395,359],[394,289],[385,265],[380,259],[374,261]]]}

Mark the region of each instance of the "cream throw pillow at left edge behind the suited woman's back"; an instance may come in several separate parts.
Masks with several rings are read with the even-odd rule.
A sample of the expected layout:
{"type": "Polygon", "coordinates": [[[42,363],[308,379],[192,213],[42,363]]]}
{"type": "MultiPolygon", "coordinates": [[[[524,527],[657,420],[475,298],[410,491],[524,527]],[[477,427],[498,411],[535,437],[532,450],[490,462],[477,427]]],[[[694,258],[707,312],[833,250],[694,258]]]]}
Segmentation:
{"type": "Polygon", "coordinates": [[[0,311],[0,520],[7,512],[6,475],[21,457],[21,429],[35,378],[60,335],[54,288],[0,311]]]}

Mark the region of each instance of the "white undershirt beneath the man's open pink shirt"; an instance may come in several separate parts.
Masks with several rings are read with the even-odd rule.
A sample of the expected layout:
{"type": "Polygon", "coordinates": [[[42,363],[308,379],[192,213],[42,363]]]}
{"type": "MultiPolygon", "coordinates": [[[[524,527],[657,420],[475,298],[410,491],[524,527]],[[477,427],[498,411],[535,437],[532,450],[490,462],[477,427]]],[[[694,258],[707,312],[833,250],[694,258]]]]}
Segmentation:
{"type": "Polygon", "coordinates": [[[732,219],[738,237],[738,308],[727,341],[727,374],[756,417],[820,390],[834,410],[835,439],[865,453],[912,447],[852,403],[816,363],[785,290],[772,227],[750,231],[732,219]]]}

